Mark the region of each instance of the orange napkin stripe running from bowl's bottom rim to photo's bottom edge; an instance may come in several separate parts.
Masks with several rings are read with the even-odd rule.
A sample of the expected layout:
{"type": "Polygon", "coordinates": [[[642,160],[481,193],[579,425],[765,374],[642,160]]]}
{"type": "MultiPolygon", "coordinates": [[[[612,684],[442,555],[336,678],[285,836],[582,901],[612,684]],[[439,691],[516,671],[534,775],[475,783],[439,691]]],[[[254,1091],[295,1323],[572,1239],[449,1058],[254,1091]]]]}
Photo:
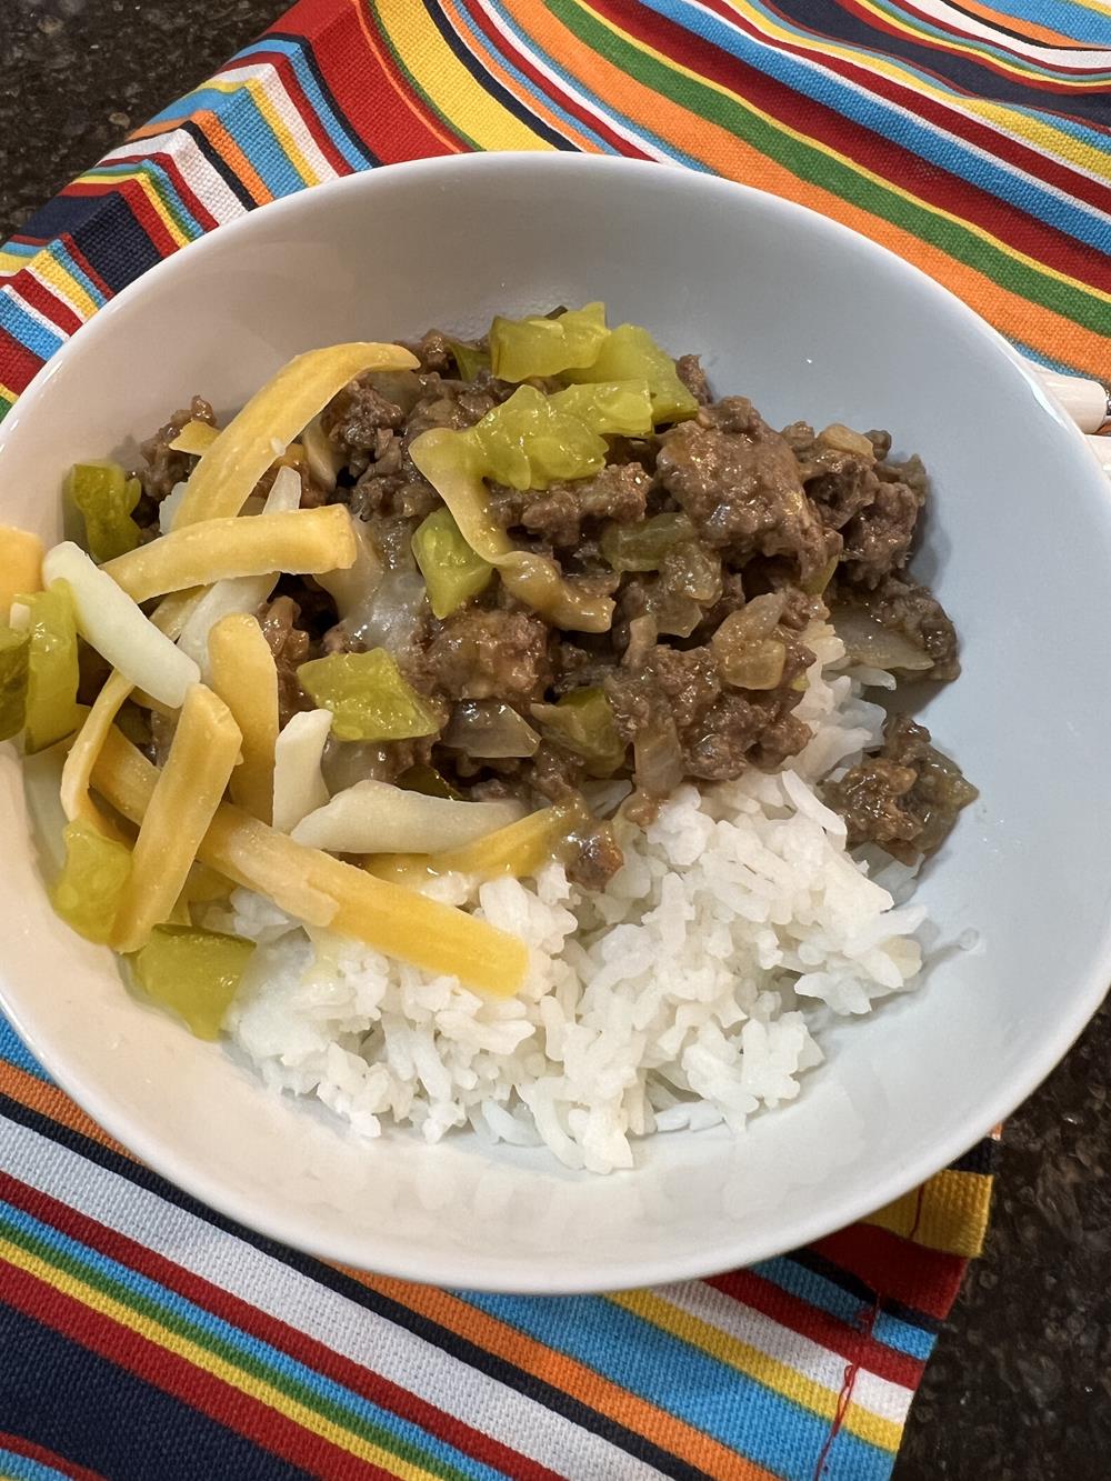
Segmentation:
{"type": "Polygon", "coordinates": [[[449,1331],[467,1337],[523,1373],[551,1383],[597,1413],[650,1440],[661,1450],[705,1471],[715,1481],[775,1481],[773,1472],[764,1471],[720,1441],[619,1388],[575,1358],[542,1346],[524,1333],[468,1306],[456,1296],[431,1286],[409,1286],[406,1281],[366,1275],[360,1271],[345,1269],[344,1274],[390,1300],[421,1312],[449,1331]]]}

